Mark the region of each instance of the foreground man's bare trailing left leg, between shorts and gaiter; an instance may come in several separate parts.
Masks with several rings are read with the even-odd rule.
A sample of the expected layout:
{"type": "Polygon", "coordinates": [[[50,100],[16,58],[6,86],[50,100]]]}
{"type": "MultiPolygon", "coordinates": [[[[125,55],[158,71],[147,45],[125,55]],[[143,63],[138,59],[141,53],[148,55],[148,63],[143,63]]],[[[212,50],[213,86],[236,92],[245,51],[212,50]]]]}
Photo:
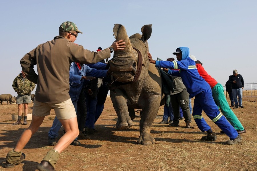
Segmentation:
{"type": "Polygon", "coordinates": [[[43,120],[44,120],[44,116],[43,117],[39,117],[39,116],[32,116],[32,121],[31,124],[29,125],[29,128],[26,129],[22,134],[20,139],[18,140],[16,146],[15,146],[15,151],[21,151],[25,145],[29,142],[31,136],[37,132],[37,130],[39,129],[40,125],[42,124],[43,120]]]}

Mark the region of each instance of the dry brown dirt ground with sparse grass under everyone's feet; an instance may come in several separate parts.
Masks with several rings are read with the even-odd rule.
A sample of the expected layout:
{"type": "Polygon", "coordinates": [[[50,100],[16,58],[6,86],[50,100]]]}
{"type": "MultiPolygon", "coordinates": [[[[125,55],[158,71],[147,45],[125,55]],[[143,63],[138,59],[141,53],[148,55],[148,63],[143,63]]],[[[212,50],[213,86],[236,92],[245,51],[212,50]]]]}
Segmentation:
{"type": "MultiPolygon", "coordinates": [[[[193,103],[193,100],[192,100],[193,103]]],[[[32,113],[29,104],[29,113],[32,113]]],[[[220,129],[203,113],[203,117],[218,135],[217,141],[201,141],[202,133],[192,120],[195,129],[186,129],[184,121],[180,127],[160,125],[163,116],[163,106],[160,107],[152,125],[151,134],[156,144],[143,146],[136,144],[139,137],[139,113],[134,119],[134,126],[130,129],[118,131],[115,128],[117,115],[113,109],[111,99],[105,103],[105,109],[96,123],[97,133],[91,134],[90,140],[79,140],[81,146],[69,145],[61,153],[56,164],[56,170],[185,170],[185,171],[220,171],[220,170],[257,170],[257,103],[243,101],[244,108],[232,109],[246,129],[241,134],[242,143],[225,145],[229,138],[220,134],[220,129]]],[[[5,156],[14,148],[21,133],[28,125],[15,125],[11,121],[12,114],[17,114],[18,105],[0,106],[0,162],[5,162],[5,156]]],[[[3,168],[0,171],[34,171],[47,151],[48,131],[53,123],[55,113],[45,117],[38,132],[33,135],[23,152],[25,160],[14,168],[3,168]]],[[[59,137],[63,135],[63,128],[59,137]]]]}

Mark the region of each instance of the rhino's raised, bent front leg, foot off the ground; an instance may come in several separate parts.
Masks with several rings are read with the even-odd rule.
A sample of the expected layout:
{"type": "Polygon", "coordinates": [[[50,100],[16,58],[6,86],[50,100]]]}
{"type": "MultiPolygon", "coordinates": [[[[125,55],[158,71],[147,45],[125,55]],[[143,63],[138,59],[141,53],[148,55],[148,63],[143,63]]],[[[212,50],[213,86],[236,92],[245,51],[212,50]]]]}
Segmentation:
{"type": "Polygon", "coordinates": [[[127,95],[123,94],[119,89],[115,89],[115,91],[116,93],[111,91],[110,96],[118,116],[116,128],[119,130],[128,129],[134,124],[128,113],[127,95]]]}

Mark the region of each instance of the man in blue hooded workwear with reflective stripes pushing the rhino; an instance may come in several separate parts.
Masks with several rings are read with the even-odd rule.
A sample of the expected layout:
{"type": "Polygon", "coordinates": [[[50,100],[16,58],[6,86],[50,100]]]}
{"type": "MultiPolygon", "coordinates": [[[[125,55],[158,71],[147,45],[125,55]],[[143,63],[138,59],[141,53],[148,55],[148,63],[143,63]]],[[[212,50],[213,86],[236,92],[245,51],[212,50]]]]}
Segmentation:
{"type": "Polygon", "coordinates": [[[150,63],[155,64],[156,67],[171,68],[180,70],[168,70],[168,74],[172,76],[179,76],[182,78],[184,85],[189,93],[189,98],[194,99],[193,117],[198,128],[204,132],[207,132],[206,136],[202,137],[204,141],[216,141],[217,136],[215,132],[212,132],[211,127],[206,123],[202,117],[202,110],[206,115],[216,124],[218,127],[228,135],[230,140],[226,144],[232,145],[242,141],[240,134],[236,129],[226,120],[226,118],[220,113],[217,105],[212,98],[212,91],[210,85],[199,75],[195,66],[194,60],[189,58],[189,48],[180,47],[173,53],[176,55],[178,62],[176,61],[155,61],[152,60],[152,56],[148,53],[150,63]]]}

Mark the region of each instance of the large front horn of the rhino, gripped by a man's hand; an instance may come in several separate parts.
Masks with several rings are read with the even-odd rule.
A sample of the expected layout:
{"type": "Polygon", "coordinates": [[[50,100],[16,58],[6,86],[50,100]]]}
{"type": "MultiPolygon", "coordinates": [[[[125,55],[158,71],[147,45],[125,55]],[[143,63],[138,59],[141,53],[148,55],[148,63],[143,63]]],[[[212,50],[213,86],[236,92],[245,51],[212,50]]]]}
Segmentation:
{"type": "Polygon", "coordinates": [[[113,35],[115,36],[116,41],[123,39],[123,42],[126,42],[125,44],[126,47],[124,48],[124,50],[115,51],[114,52],[115,56],[130,56],[131,55],[130,53],[132,52],[132,46],[128,38],[125,27],[121,24],[115,24],[113,27],[113,32],[114,32],[113,35]]]}

